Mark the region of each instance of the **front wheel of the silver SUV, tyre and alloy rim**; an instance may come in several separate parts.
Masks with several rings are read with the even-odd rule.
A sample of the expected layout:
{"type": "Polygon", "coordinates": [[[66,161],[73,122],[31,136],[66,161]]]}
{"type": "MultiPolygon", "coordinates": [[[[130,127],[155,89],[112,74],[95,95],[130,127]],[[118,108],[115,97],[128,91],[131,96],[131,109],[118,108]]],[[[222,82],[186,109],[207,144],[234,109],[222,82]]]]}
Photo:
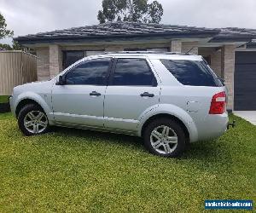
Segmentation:
{"type": "Polygon", "coordinates": [[[26,136],[44,134],[49,130],[48,118],[42,107],[36,104],[27,104],[20,110],[18,125],[26,136]]]}

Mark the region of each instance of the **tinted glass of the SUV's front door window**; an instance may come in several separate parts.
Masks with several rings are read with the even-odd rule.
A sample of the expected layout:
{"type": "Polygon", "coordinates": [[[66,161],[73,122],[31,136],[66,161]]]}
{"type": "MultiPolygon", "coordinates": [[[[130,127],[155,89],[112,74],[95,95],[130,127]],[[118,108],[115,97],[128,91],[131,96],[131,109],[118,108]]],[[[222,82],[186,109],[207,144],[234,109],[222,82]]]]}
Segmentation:
{"type": "Polygon", "coordinates": [[[67,84],[103,85],[106,83],[111,58],[89,60],[73,67],[66,74],[67,84]]]}

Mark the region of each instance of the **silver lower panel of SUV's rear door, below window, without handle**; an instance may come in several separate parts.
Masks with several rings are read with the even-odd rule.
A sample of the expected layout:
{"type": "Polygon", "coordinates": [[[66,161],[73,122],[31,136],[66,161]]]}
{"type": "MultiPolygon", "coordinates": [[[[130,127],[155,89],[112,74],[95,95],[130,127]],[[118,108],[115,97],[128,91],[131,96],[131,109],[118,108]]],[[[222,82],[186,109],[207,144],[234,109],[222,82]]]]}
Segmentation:
{"type": "Polygon", "coordinates": [[[112,129],[137,130],[142,113],[159,102],[158,87],[108,86],[104,103],[105,126],[112,129]],[[143,93],[154,94],[143,97],[143,93]]]}

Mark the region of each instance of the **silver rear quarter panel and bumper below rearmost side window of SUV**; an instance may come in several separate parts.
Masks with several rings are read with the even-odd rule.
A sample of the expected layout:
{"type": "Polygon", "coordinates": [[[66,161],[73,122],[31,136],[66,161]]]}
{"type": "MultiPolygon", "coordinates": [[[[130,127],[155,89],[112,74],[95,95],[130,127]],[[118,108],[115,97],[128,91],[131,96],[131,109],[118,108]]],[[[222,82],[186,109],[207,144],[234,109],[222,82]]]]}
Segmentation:
{"type": "Polygon", "coordinates": [[[198,141],[208,140],[222,135],[226,130],[227,112],[222,115],[209,114],[212,96],[221,91],[224,91],[224,87],[163,86],[160,104],[182,108],[195,124],[198,141]]]}

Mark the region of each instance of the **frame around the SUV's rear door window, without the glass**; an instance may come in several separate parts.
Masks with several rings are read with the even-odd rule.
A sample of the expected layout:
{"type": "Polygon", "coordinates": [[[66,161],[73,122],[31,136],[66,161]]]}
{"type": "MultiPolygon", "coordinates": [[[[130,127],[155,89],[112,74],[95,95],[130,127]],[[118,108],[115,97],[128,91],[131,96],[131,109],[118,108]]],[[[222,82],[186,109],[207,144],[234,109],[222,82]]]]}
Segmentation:
{"type": "Polygon", "coordinates": [[[110,73],[110,76],[108,78],[108,86],[115,86],[115,87],[157,87],[158,86],[158,82],[157,82],[157,78],[155,77],[155,74],[151,68],[151,66],[149,65],[148,63],[148,60],[146,58],[138,58],[138,57],[115,57],[114,60],[113,60],[113,65],[112,65],[112,69],[111,69],[111,73],[110,73]],[[154,77],[154,82],[152,83],[152,85],[114,85],[113,84],[113,76],[114,76],[114,73],[116,71],[116,65],[117,65],[117,62],[118,60],[121,60],[121,59],[133,59],[133,60],[136,60],[136,59],[141,59],[141,60],[144,60],[146,61],[146,64],[148,66],[148,69],[149,69],[149,72],[151,72],[153,74],[153,77],[154,77]]]}

